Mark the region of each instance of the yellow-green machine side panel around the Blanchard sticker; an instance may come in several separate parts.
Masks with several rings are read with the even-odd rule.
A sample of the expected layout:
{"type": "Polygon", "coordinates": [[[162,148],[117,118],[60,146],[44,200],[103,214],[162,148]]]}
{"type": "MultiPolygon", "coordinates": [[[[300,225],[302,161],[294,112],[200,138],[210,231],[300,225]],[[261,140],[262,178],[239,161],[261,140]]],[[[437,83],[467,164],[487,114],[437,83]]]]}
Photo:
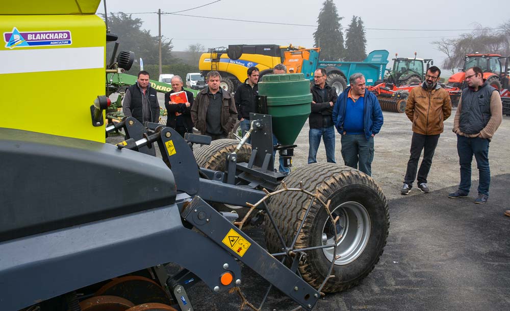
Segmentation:
{"type": "MultiPolygon", "coordinates": [[[[0,75],[0,92],[10,94],[0,99],[0,127],[104,142],[105,127],[92,126],[90,115],[90,106],[94,100],[98,95],[105,94],[104,21],[95,15],[0,16],[0,34],[12,32],[13,28],[19,32],[66,30],[71,33],[72,43],[65,46],[25,46],[9,49],[4,38],[1,39],[0,53],[14,56],[13,59],[16,59],[16,55],[21,55],[16,54],[20,51],[28,51],[34,57],[38,54],[44,55],[44,58],[38,63],[31,60],[36,67],[33,71],[36,72],[26,72],[25,64],[29,62],[27,60],[20,62],[21,73],[0,75]],[[95,62],[102,65],[90,66],[89,69],[58,71],[37,69],[39,64],[41,68],[46,68],[40,70],[47,70],[48,64],[52,62],[55,66],[62,63],[58,58],[52,59],[52,53],[48,54],[48,51],[64,52],[62,49],[71,49],[68,51],[73,55],[72,49],[76,47],[102,50],[102,59],[99,52],[96,54],[99,60],[95,62]]],[[[81,58],[71,58],[70,62],[75,64],[88,61],[87,54],[83,56],[82,53],[81,58]]]]}

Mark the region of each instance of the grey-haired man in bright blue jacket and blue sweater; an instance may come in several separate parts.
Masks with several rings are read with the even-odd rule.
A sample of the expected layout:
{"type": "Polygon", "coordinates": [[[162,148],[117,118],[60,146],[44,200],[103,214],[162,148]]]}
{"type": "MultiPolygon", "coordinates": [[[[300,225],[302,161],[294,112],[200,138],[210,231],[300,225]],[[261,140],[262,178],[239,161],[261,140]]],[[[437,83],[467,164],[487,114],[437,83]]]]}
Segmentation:
{"type": "Polygon", "coordinates": [[[339,95],[333,107],[333,122],[342,135],[344,163],[368,176],[372,175],[374,136],[379,133],[383,118],[377,98],[365,91],[365,77],[353,74],[350,86],[339,95]]]}

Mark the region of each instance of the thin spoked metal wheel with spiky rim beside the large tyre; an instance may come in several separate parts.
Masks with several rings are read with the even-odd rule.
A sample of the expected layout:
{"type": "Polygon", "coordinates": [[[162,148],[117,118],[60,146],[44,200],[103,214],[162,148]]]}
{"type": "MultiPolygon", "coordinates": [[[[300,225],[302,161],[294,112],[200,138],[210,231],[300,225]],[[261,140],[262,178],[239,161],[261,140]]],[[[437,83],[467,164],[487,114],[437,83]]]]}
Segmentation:
{"type": "MultiPolygon", "coordinates": [[[[340,236],[338,234],[338,232],[337,232],[337,223],[338,223],[340,217],[339,216],[336,216],[336,217],[333,216],[333,214],[331,213],[331,211],[329,209],[330,201],[328,201],[327,203],[322,201],[319,198],[319,192],[318,192],[317,188],[316,188],[316,192],[312,193],[312,192],[310,192],[308,190],[305,190],[303,188],[302,182],[299,183],[299,188],[289,188],[289,187],[287,187],[285,182],[282,181],[282,188],[281,189],[275,190],[274,192],[269,192],[267,189],[263,189],[263,190],[266,193],[264,198],[262,198],[261,200],[259,200],[255,204],[246,203],[246,205],[250,209],[246,213],[245,217],[241,221],[234,222],[234,225],[236,225],[239,229],[242,229],[243,226],[245,225],[245,223],[247,221],[249,221],[250,214],[255,209],[262,210],[264,213],[266,213],[267,218],[269,219],[269,221],[272,224],[272,227],[276,231],[276,234],[278,236],[278,240],[282,244],[282,249],[284,250],[284,252],[273,253],[271,255],[273,257],[282,257],[282,259],[280,260],[282,262],[282,264],[287,264],[288,266],[290,264],[290,269],[293,272],[297,273],[298,275],[300,275],[299,274],[299,270],[298,270],[298,266],[299,266],[300,262],[304,264],[304,262],[306,261],[306,258],[307,258],[306,252],[317,250],[317,249],[332,248],[333,249],[333,258],[334,259],[331,260],[331,265],[329,266],[329,269],[327,271],[326,277],[324,278],[324,280],[320,284],[319,288],[317,288],[317,291],[320,292],[321,296],[324,296],[325,294],[323,292],[321,292],[321,290],[324,287],[324,285],[326,284],[328,279],[335,277],[334,275],[331,275],[331,271],[333,271],[333,267],[335,265],[335,261],[340,258],[340,255],[337,255],[337,248],[335,247],[338,244],[338,242],[341,240],[341,238],[342,238],[342,236],[340,236]],[[303,218],[302,218],[302,220],[299,223],[299,227],[298,227],[297,231],[294,234],[294,237],[292,239],[292,243],[289,246],[286,245],[284,237],[283,237],[282,233],[279,231],[279,229],[278,229],[278,227],[277,227],[277,225],[276,225],[276,223],[274,221],[274,218],[273,218],[273,216],[271,214],[271,211],[269,210],[269,208],[267,206],[267,203],[266,203],[266,201],[270,197],[278,195],[278,194],[281,194],[281,193],[284,193],[284,192],[302,192],[302,193],[304,193],[305,195],[307,195],[308,197],[311,198],[310,203],[309,203],[307,209],[304,212],[303,218]],[[312,208],[312,206],[313,206],[313,204],[315,202],[319,202],[320,208],[324,208],[325,209],[325,211],[327,212],[327,215],[328,215],[328,220],[331,221],[331,223],[333,223],[333,226],[332,226],[333,229],[334,229],[334,240],[333,241],[335,241],[335,244],[328,244],[328,245],[321,245],[321,246],[311,246],[311,247],[307,247],[307,248],[297,249],[297,248],[295,248],[295,244],[297,242],[299,233],[301,232],[301,230],[303,228],[303,225],[304,225],[305,221],[307,220],[307,217],[309,216],[309,212],[310,212],[310,210],[311,210],[311,208],[312,208]],[[260,206],[260,208],[258,208],[259,206],[260,206]]],[[[245,307],[248,307],[251,310],[260,311],[260,310],[262,310],[262,307],[263,307],[264,303],[266,302],[266,300],[267,300],[267,298],[269,296],[269,292],[271,291],[271,289],[272,289],[272,284],[269,285],[269,287],[268,287],[268,289],[267,289],[267,291],[266,291],[266,293],[264,295],[264,298],[262,299],[262,302],[260,303],[259,307],[256,307],[253,303],[250,303],[246,299],[246,295],[244,295],[242,293],[241,289],[238,286],[236,286],[235,288],[232,288],[229,291],[229,293],[231,293],[231,294],[232,293],[236,293],[241,298],[241,304],[239,306],[239,310],[243,310],[245,307]]],[[[318,297],[316,297],[316,298],[318,298],[318,297]]],[[[309,307],[311,307],[311,305],[309,305],[309,307]]],[[[302,309],[302,307],[301,306],[297,306],[296,308],[293,308],[292,311],[299,310],[299,309],[302,309]]]]}

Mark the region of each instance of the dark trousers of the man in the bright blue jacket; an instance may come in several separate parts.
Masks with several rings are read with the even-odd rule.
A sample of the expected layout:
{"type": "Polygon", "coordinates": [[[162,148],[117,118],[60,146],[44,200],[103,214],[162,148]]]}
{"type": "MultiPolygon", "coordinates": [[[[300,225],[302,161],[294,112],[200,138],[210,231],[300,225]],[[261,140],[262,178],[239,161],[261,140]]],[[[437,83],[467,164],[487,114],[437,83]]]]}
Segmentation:
{"type": "Polygon", "coordinates": [[[374,159],[374,137],[367,140],[365,134],[342,135],[342,157],[344,164],[372,175],[372,161],[374,159]]]}

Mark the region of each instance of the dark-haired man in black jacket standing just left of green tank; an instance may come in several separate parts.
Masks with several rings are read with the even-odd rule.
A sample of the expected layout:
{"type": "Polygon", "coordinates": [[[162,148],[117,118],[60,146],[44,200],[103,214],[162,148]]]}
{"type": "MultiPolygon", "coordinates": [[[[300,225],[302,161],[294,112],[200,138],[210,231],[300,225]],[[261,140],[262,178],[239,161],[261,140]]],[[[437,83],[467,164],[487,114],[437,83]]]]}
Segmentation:
{"type": "MultiPolygon", "coordinates": [[[[241,130],[246,133],[250,129],[250,112],[256,112],[257,95],[259,94],[259,68],[249,67],[248,78],[237,87],[234,100],[236,101],[237,118],[241,121],[241,130]]],[[[251,143],[251,139],[247,140],[251,143]]]]}

